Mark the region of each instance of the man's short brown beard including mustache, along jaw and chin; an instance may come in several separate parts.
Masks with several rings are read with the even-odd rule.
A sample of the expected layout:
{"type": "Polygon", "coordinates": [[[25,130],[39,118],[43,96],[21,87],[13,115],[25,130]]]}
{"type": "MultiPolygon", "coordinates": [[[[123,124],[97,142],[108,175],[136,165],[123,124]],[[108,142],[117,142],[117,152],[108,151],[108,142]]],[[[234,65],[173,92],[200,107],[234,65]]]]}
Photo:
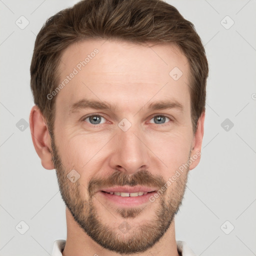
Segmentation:
{"type": "MultiPolygon", "coordinates": [[[[113,229],[114,223],[109,223],[109,225],[103,223],[100,212],[95,207],[96,203],[101,204],[94,196],[96,189],[115,185],[146,185],[161,189],[166,180],[160,175],[152,175],[147,170],[137,171],[133,175],[116,171],[107,178],[91,178],[85,187],[79,183],[79,179],[72,183],[67,178],[70,170],[67,170],[62,164],[53,135],[51,135],[51,148],[59,190],[66,207],[84,232],[103,248],[121,254],[144,252],[151,248],[167,231],[181,205],[187,182],[187,171],[181,173],[175,182],[159,195],[158,200],[151,202],[157,206],[154,207],[156,209],[152,219],[143,217],[143,220],[146,220],[145,223],[132,228],[132,219],[135,220],[136,216],[143,214],[143,207],[116,208],[115,211],[121,216],[122,221],[118,228],[113,229]],[[84,190],[87,190],[87,197],[81,194],[81,191],[84,190]]],[[[150,207],[146,206],[146,210],[149,210],[150,207]]]]}

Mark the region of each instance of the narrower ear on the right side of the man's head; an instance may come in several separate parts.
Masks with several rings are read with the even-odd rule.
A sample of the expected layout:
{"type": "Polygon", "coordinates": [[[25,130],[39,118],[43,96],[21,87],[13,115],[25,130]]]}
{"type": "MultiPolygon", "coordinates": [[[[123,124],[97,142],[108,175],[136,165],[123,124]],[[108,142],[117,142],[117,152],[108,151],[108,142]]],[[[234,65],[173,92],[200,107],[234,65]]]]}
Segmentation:
{"type": "Polygon", "coordinates": [[[192,151],[190,155],[191,164],[189,170],[193,169],[200,161],[201,158],[201,146],[203,137],[205,111],[203,111],[197,120],[197,128],[192,141],[192,151]]]}

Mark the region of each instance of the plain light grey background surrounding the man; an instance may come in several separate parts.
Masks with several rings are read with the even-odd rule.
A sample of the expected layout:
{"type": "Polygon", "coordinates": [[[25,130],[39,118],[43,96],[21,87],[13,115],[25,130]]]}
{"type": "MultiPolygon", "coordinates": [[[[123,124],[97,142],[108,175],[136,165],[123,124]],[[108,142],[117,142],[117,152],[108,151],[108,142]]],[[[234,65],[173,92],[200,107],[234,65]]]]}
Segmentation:
{"type": "MultiPolygon", "coordinates": [[[[0,0],[0,255],[50,255],[53,241],[66,239],[55,170],[41,166],[26,124],[35,36],[75,2],[0,0]]],[[[167,2],[194,23],[210,68],[201,161],[175,218],[176,240],[197,255],[256,255],[256,0],[167,2]]]]}

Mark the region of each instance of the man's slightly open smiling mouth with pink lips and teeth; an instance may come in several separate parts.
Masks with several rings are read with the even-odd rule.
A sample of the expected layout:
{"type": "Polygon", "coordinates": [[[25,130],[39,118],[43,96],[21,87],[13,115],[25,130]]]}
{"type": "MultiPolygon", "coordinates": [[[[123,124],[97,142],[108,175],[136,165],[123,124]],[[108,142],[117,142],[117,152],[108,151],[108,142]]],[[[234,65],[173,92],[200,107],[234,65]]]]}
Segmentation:
{"type": "Polygon", "coordinates": [[[98,192],[104,200],[110,203],[121,207],[132,207],[150,202],[149,197],[156,191],[156,188],[121,186],[103,188],[98,192]]]}

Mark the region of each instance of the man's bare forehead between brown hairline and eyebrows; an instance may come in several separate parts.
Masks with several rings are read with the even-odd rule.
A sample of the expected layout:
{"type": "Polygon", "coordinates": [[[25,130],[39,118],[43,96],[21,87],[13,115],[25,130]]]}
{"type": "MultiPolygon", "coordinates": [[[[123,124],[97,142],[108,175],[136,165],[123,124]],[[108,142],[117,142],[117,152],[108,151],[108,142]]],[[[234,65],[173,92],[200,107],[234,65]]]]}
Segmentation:
{"type": "Polygon", "coordinates": [[[56,110],[61,105],[66,112],[83,98],[112,102],[117,109],[173,98],[189,109],[188,60],[173,44],[82,40],[67,47],[60,60],[63,86],[56,110]]]}

